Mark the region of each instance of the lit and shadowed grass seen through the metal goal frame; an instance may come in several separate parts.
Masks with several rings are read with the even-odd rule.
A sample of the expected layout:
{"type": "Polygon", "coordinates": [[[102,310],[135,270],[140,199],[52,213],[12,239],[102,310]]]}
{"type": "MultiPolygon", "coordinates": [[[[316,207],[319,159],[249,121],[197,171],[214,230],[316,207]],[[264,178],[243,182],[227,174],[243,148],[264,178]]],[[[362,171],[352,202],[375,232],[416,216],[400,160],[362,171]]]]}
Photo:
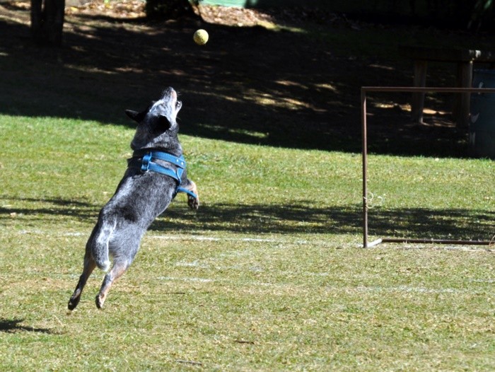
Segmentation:
{"type": "Polygon", "coordinates": [[[371,156],[372,233],[403,238],[494,238],[490,160],[371,156]],[[394,223],[390,223],[394,221],[394,223]]]}

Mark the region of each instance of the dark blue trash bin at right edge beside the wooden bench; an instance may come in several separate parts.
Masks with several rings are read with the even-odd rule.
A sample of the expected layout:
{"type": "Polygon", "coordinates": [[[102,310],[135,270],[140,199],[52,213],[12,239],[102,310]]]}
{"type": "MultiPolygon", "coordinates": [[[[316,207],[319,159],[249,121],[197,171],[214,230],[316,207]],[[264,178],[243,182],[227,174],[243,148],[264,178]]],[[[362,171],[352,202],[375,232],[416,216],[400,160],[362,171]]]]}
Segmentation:
{"type": "MultiPolygon", "coordinates": [[[[495,88],[495,70],[474,70],[473,88],[495,88]]],[[[495,159],[495,94],[472,93],[470,153],[495,159]]]]}

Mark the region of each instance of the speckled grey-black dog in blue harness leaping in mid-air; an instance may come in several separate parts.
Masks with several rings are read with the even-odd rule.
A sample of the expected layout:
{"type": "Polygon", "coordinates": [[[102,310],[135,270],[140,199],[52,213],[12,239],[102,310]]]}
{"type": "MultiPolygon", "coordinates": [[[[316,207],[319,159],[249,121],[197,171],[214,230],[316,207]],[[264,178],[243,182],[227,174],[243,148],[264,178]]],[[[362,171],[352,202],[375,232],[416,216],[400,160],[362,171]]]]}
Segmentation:
{"type": "Polygon", "coordinates": [[[96,306],[103,308],[110,287],[132,264],[144,233],[167,209],[177,192],[186,192],[189,207],[198,209],[197,187],[187,178],[182,146],[177,138],[176,117],[181,107],[182,102],[170,87],[147,110],[125,111],[138,123],[131,142],[133,157],[128,159],[124,177],[101,209],[86,243],[83,273],[69,300],[69,310],[78,306],[95,267],[107,272],[96,296],[96,306]]]}

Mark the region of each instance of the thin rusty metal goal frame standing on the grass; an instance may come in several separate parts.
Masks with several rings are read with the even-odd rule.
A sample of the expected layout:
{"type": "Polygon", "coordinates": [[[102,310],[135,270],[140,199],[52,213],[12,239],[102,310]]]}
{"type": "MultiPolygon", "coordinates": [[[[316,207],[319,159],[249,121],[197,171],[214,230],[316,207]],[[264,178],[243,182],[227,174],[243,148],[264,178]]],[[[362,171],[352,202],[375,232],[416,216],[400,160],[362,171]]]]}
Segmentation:
{"type": "Polygon", "coordinates": [[[434,243],[458,245],[495,245],[495,240],[447,240],[447,239],[412,239],[412,238],[379,238],[368,243],[368,135],[366,124],[366,93],[495,93],[495,88],[420,88],[420,87],[361,87],[361,124],[363,141],[363,248],[371,248],[380,243],[434,243]]]}

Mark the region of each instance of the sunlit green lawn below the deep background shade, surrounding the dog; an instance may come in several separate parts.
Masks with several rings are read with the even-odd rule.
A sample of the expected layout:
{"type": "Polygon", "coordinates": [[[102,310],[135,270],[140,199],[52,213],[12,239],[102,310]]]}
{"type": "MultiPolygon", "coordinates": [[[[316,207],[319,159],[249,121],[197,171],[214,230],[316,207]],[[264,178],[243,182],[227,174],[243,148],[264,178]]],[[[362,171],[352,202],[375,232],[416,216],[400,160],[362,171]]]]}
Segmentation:
{"type": "MultiPolygon", "coordinates": [[[[6,115],[0,131],[2,371],[495,368],[493,252],[359,249],[355,153],[181,136],[199,211],[177,196],[105,309],[98,272],[68,313],[134,131],[6,115]]],[[[371,156],[372,233],[491,238],[494,168],[371,156]]]]}

